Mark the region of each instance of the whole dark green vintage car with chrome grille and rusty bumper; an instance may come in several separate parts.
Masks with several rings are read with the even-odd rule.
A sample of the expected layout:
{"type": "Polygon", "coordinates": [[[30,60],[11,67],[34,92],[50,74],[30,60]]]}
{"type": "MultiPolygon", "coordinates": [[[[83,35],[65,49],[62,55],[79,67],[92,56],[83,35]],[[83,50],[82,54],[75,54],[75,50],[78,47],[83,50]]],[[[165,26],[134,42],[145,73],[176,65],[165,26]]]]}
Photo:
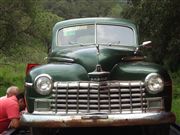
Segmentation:
{"type": "Polygon", "coordinates": [[[136,125],[147,134],[168,135],[175,122],[172,82],[161,66],[145,62],[140,48],[149,43],[139,44],[136,26],[124,19],[56,23],[47,64],[28,67],[22,125],[34,134],[136,125]]]}

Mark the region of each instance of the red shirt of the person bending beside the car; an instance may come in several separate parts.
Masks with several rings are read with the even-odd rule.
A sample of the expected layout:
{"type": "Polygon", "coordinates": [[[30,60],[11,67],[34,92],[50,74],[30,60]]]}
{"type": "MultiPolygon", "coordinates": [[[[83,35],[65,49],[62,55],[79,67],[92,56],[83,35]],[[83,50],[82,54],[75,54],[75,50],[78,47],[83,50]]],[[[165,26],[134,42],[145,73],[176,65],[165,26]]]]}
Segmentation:
{"type": "Polygon", "coordinates": [[[0,99],[0,133],[8,129],[11,119],[19,119],[19,104],[16,96],[0,99]]]}

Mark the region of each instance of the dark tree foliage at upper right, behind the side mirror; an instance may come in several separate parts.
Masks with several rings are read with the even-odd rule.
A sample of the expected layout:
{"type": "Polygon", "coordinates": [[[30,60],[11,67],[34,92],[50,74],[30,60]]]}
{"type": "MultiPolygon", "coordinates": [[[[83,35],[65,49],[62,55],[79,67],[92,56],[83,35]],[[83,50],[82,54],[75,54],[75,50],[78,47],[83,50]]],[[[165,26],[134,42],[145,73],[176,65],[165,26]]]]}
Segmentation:
{"type": "Polygon", "coordinates": [[[135,0],[123,11],[140,28],[141,42],[153,41],[147,55],[171,71],[180,68],[180,3],[178,0],[135,0]]]}

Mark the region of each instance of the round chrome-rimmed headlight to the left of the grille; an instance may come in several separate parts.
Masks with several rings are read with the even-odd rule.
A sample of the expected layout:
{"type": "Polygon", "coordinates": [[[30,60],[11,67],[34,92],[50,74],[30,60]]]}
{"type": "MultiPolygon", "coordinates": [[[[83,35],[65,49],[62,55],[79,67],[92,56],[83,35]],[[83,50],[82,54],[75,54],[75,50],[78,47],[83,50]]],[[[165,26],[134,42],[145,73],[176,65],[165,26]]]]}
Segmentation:
{"type": "Polygon", "coordinates": [[[51,92],[53,81],[48,74],[41,74],[35,78],[34,86],[36,91],[42,95],[48,95],[51,92]]]}

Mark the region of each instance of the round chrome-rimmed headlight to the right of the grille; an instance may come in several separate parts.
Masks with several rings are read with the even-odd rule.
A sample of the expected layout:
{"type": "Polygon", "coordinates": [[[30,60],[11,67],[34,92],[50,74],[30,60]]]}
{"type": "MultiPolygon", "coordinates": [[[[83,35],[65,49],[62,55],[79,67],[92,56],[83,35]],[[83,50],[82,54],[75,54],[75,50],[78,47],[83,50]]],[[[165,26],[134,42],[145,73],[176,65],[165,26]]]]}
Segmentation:
{"type": "Polygon", "coordinates": [[[163,90],[164,81],[159,74],[150,73],[145,78],[145,85],[146,85],[146,89],[149,91],[149,93],[156,94],[163,90]]]}

